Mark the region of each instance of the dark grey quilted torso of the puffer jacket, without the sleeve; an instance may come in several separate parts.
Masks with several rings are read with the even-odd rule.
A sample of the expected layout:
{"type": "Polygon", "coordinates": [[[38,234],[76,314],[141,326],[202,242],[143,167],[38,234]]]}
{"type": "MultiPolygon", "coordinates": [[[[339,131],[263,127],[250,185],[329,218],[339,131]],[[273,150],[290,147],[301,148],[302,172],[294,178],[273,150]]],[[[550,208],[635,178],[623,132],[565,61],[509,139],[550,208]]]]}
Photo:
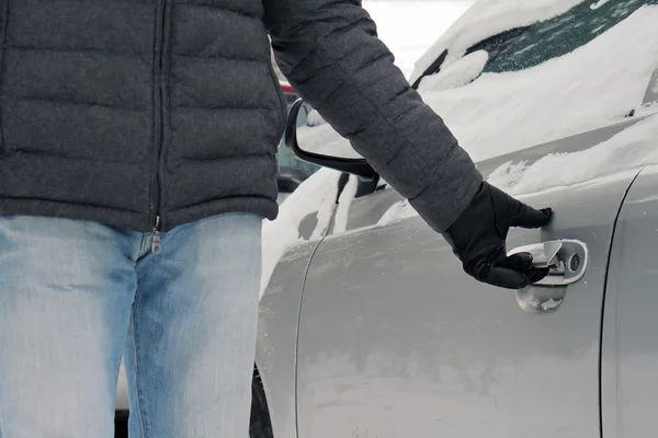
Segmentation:
{"type": "Polygon", "coordinates": [[[0,215],[161,231],[276,216],[259,0],[0,0],[0,215]]]}

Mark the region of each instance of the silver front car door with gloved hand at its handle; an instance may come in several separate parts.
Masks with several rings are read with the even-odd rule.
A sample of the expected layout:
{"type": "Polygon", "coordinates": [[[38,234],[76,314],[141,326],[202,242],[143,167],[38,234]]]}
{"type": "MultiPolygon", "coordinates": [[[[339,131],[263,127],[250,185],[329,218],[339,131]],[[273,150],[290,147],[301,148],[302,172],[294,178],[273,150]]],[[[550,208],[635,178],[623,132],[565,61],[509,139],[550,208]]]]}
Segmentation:
{"type": "MultiPolygon", "coordinates": [[[[495,178],[519,163],[538,163],[559,175],[564,160],[552,166],[540,159],[582,158],[578,151],[637,123],[479,169],[495,178]]],[[[513,230],[508,240],[510,250],[585,242],[589,257],[576,266],[585,275],[566,287],[514,292],[479,284],[395,191],[354,199],[347,222],[337,223],[341,232],[319,244],[307,272],[297,349],[299,438],[599,437],[605,272],[615,218],[638,170],[595,176],[586,168],[577,183],[547,177],[538,193],[522,196],[553,207],[555,218],[541,231],[513,230]]]]}

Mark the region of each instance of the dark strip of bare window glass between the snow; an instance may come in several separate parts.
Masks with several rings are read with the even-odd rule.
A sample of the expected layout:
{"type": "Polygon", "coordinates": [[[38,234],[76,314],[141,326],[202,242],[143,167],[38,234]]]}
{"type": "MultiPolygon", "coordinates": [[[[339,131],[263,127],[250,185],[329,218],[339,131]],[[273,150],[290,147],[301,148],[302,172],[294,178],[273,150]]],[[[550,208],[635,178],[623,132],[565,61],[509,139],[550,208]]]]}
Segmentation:
{"type": "Polygon", "coordinates": [[[487,50],[484,72],[523,70],[574,51],[647,4],[658,0],[583,1],[551,20],[483,41],[467,54],[487,50]]]}

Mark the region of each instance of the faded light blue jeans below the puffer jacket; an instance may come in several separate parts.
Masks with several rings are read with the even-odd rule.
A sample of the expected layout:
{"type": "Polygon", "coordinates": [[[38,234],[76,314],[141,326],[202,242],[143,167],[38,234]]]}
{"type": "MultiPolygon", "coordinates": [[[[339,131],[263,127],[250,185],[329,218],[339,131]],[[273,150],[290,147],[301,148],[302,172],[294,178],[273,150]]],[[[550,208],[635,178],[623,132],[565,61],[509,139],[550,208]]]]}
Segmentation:
{"type": "Polygon", "coordinates": [[[124,356],[132,438],[246,438],[261,219],[151,234],[0,218],[0,437],[112,438],[124,356]]]}

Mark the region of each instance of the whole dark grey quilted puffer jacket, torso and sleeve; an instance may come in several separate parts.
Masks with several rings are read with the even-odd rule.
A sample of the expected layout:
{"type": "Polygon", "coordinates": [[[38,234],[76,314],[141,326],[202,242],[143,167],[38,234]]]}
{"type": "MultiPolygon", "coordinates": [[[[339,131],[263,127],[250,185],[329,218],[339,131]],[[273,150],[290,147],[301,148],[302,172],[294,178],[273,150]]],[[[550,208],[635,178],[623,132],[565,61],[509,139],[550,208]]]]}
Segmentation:
{"type": "Polygon", "coordinates": [[[438,230],[480,176],[356,1],[0,0],[0,215],[147,232],[274,218],[285,104],[308,102],[438,230]]]}

